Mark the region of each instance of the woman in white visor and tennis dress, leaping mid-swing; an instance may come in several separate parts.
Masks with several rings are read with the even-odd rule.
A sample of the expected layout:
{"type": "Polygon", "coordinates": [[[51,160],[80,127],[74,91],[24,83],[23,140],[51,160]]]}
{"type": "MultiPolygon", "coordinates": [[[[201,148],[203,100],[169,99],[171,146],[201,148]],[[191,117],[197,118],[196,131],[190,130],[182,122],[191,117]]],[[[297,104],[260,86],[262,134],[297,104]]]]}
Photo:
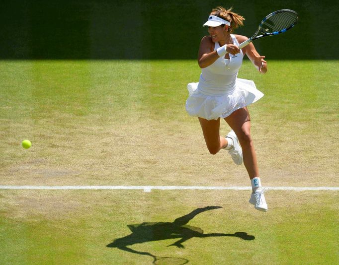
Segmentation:
{"type": "Polygon", "coordinates": [[[251,119],[247,106],[263,94],[251,80],[238,78],[238,71],[245,55],[258,72],[266,73],[267,63],[253,43],[239,49],[238,45],[248,38],[233,35],[233,30],[243,25],[245,18],[218,6],[212,9],[203,26],[209,36],[202,38],[198,64],[201,68],[198,83],[187,85],[189,97],[186,111],[198,117],[207,148],[211,154],[225,149],[237,165],[244,165],[252,183],[250,203],[255,209],[267,211],[267,203],[261,187],[259,170],[251,138],[251,119]],[[220,119],[224,119],[232,131],[220,136],[220,119]]]}

